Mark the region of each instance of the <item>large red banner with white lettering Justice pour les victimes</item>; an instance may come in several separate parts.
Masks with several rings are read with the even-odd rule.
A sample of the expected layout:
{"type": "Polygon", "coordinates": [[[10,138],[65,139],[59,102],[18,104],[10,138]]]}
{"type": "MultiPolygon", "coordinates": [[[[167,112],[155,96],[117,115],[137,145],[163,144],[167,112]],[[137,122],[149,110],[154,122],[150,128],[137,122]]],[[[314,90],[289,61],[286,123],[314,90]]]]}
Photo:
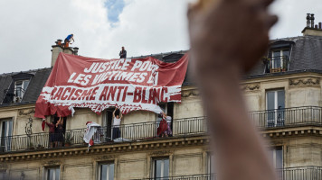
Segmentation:
{"type": "Polygon", "coordinates": [[[100,113],[161,112],[160,102],[181,102],[187,55],[175,63],[156,58],[86,58],[60,53],[36,102],[35,117],[71,115],[74,107],[100,113]]]}

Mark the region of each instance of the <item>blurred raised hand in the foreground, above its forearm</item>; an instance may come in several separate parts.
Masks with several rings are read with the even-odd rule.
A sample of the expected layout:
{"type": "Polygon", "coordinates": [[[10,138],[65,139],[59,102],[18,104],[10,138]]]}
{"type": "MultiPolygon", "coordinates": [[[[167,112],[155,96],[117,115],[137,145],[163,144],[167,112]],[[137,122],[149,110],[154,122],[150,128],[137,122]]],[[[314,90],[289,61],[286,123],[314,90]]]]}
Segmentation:
{"type": "Polygon", "coordinates": [[[266,51],[270,27],[277,22],[267,9],[272,1],[217,0],[204,10],[191,6],[188,19],[191,55],[198,57],[196,73],[227,66],[250,70],[266,51]]]}

